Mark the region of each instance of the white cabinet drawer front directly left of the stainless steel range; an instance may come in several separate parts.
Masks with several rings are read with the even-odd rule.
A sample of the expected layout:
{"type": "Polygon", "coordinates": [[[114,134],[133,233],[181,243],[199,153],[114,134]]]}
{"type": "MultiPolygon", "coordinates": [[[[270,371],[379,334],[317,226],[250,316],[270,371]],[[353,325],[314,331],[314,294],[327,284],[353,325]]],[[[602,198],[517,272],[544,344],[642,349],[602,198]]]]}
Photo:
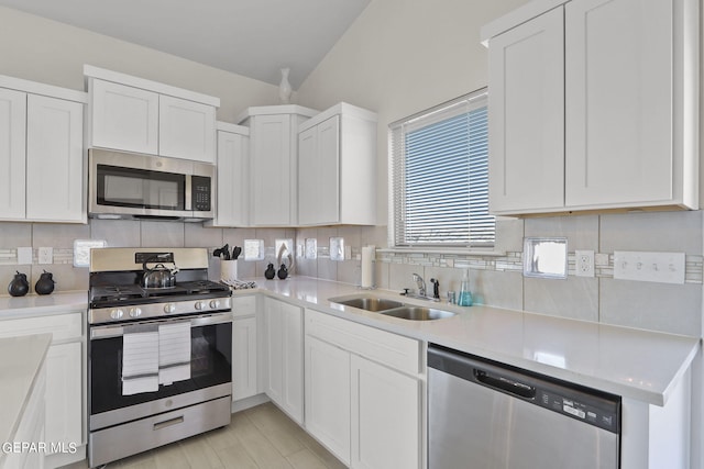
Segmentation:
{"type": "Polygon", "coordinates": [[[0,321],[0,337],[52,334],[53,342],[80,338],[84,321],[81,313],[0,321]]]}

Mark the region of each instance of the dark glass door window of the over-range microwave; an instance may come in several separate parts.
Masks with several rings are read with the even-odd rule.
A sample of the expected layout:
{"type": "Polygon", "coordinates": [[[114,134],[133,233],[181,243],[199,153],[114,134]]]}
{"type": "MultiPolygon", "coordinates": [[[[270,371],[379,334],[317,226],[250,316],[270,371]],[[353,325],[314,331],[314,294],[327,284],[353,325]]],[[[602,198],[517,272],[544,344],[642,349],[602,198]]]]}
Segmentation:
{"type": "Polygon", "coordinates": [[[184,210],[186,177],[173,172],[98,165],[98,203],[184,210]]]}

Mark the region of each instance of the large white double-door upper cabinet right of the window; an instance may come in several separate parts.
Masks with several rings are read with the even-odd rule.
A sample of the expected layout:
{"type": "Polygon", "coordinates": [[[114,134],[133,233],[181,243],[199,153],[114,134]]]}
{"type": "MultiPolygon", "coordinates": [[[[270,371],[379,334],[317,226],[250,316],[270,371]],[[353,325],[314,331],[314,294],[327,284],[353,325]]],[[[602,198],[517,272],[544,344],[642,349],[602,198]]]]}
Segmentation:
{"type": "Polygon", "coordinates": [[[485,26],[491,210],[697,209],[698,8],[542,0],[485,26]]]}

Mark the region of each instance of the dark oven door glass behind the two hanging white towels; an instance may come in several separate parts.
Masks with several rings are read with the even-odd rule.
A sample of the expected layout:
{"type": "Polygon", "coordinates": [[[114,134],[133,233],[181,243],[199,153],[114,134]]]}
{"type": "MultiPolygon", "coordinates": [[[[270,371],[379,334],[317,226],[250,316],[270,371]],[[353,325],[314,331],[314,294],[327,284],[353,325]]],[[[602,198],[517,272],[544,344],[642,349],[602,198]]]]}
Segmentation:
{"type": "Polygon", "coordinates": [[[122,337],[90,342],[92,415],[232,381],[232,324],[190,330],[190,379],[160,386],[156,392],[122,395],[122,337]]]}

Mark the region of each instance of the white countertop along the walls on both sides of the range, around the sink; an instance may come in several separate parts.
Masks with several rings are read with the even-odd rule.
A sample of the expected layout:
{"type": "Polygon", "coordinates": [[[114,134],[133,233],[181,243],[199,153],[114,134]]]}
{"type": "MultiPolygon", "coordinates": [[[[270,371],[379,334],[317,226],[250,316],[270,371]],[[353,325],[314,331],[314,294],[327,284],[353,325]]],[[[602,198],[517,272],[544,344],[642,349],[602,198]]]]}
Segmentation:
{"type": "MultiPolygon", "coordinates": [[[[292,277],[254,279],[262,293],[350,321],[480,355],[566,381],[656,405],[668,402],[700,347],[700,338],[575,321],[491,306],[452,306],[406,299],[395,291],[361,290],[349,283],[292,277]],[[438,321],[406,321],[346,308],[330,298],[369,294],[450,310],[438,321]]],[[[21,298],[0,297],[0,320],[85,311],[85,291],[21,298]]],[[[0,394],[1,395],[1,394],[0,394]]]]}

